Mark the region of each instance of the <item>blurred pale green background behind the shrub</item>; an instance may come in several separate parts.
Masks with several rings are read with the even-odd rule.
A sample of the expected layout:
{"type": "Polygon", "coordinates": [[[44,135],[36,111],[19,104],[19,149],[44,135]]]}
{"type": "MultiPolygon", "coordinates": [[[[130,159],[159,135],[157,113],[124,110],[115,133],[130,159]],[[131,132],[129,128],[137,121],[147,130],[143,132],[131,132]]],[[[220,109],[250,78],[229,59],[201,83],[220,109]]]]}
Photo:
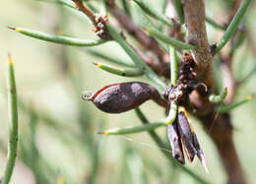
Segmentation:
{"type": "MultiPolygon", "coordinates": [[[[152,1],[160,8],[157,1],[152,1]]],[[[223,1],[206,1],[206,13],[222,24],[227,19],[223,1]]],[[[97,131],[139,125],[134,111],[106,114],[91,102],[81,99],[83,91],[92,91],[126,79],[103,72],[92,62],[99,59],[83,48],[36,40],[7,26],[37,31],[57,32],[83,38],[96,38],[87,19],[56,4],[35,0],[3,1],[0,11],[0,173],[2,175],[8,143],[6,94],[7,53],[13,57],[19,95],[19,153],[12,178],[14,183],[196,183],[186,173],[173,168],[147,133],[125,137],[103,137],[97,131]],[[146,144],[150,145],[147,146],[146,144]]],[[[245,75],[255,66],[255,3],[251,4],[244,23],[248,35],[235,53],[235,77],[245,75]]],[[[210,41],[222,35],[208,27],[210,41]]],[[[114,42],[94,47],[116,58],[129,59],[114,42]]],[[[237,91],[236,99],[256,92],[256,75],[237,91]]],[[[163,110],[149,101],[141,109],[151,121],[164,117],[163,110]]],[[[232,110],[233,137],[248,183],[256,183],[256,99],[232,110]]],[[[224,183],[226,176],[219,155],[201,125],[192,118],[198,139],[209,165],[205,173],[196,159],[185,166],[212,183],[224,183]]],[[[165,129],[158,130],[165,139],[165,129]]]]}

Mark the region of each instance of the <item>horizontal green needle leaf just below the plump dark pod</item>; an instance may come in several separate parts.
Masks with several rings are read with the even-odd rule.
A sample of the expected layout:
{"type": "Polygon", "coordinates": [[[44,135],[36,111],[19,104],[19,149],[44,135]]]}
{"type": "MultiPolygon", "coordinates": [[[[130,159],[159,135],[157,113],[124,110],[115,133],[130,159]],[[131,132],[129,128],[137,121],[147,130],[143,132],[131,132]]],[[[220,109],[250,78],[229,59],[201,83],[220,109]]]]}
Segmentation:
{"type": "Polygon", "coordinates": [[[126,127],[126,128],[115,128],[115,129],[110,129],[106,130],[103,132],[99,132],[98,134],[103,134],[103,135],[124,135],[124,134],[135,134],[135,133],[140,133],[140,132],[145,132],[145,131],[152,131],[156,128],[166,126],[164,123],[151,123],[151,124],[146,124],[142,126],[136,126],[136,127],[126,127]]]}

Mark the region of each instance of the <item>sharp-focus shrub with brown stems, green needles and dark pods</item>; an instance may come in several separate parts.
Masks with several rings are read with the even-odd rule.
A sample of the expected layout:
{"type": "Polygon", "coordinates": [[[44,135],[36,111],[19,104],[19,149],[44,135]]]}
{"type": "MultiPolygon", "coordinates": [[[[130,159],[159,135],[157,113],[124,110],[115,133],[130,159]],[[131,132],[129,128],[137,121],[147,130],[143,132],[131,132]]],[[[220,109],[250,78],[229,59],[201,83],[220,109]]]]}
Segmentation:
{"type": "MultiPolygon", "coordinates": [[[[146,83],[137,82],[138,80],[136,80],[136,82],[108,85],[97,92],[84,92],[82,95],[84,100],[92,101],[98,109],[106,113],[122,113],[135,109],[138,117],[144,124],[137,127],[107,130],[101,132],[101,134],[120,135],[148,131],[158,146],[166,148],[165,144],[154,131],[154,129],[158,127],[165,126],[172,156],[179,163],[184,164],[183,150],[189,161],[193,161],[195,155],[197,155],[206,171],[208,171],[204,153],[200,148],[199,141],[189,121],[186,110],[193,113],[193,115],[201,120],[205,128],[209,128],[211,123],[213,123],[213,117],[215,117],[216,113],[221,113],[220,118],[217,119],[217,123],[223,126],[222,121],[226,120],[227,123],[224,122],[226,126],[224,128],[218,127],[215,131],[215,135],[210,136],[217,146],[222,147],[219,148],[218,151],[223,156],[223,160],[226,161],[224,166],[228,173],[229,183],[233,183],[233,178],[236,178],[237,173],[241,183],[245,183],[241,171],[242,169],[240,168],[238,158],[233,148],[228,111],[247,102],[251,97],[230,103],[232,102],[231,95],[234,93],[230,92],[228,97],[229,104],[224,104],[227,90],[225,88],[223,91],[219,89],[220,94],[218,95],[213,93],[216,92],[215,86],[217,86],[214,81],[213,57],[220,53],[229,39],[232,39],[233,45],[231,45],[231,49],[228,52],[229,55],[227,54],[228,57],[225,59],[228,61],[222,63],[226,68],[229,67],[227,72],[231,71],[230,63],[232,54],[239,47],[244,38],[243,32],[237,30],[237,28],[249,6],[250,0],[242,0],[237,12],[231,16],[232,19],[230,19],[231,22],[227,28],[218,25],[211,18],[205,16],[203,0],[198,0],[196,3],[192,0],[163,1],[162,13],[155,10],[146,0],[122,1],[123,10],[120,9],[113,0],[100,0],[96,2],[100,5],[100,14],[98,14],[98,7],[94,7],[88,1],[52,1],[75,9],[78,16],[86,15],[90,18],[93,25],[92,30],[96,32],[98,39],[80,39],[23,28],[9,28],[37,39],[72,46],[91,47],[103,44],[107,41],[115,41],[131,58],[132,63],[109,57],[95,50],[87,49],[88,53],[121,66],[113,67],[103,63],[95,63],[96,67],[122,77],[145,77],[154,85],[153,87],[146,83]],[[170,11],[170,9],[165,9],[166,6],[174,7],[173,11],[175,10],[176,13],[174,19],[169,19],[163,14],[164,11],[170,11]],[[134,36],[138,43],[140,43],[146,51],[151,53],[152,57],[148,56],[146,51],[144,53],[129,43],[126,40],[126,32],[120,33],[112,27],[107,20],[107,12],[111,13],[118,21],[119,25],[134,36]],[[156,23],[153,22],[152,19],[149,19],[148,16],[155,19],[155,21],[158,22],[158,26],[156,26],[156,23]],[[205,22],[215,29],[224,31],[223,37],[217,44],[209,45],[205,22]],[[182,27],[182,25],[185,25],[186,28],[182,27]],[[168,34],[163,33],[166,30],[168,34]],[[237,31],[237,33],[235,33],[235,31],[237,31]],[[185,38],[187,42],[184,42],[185,38]],[[183,50],[190,51],[185,52],[183,50]],[[164,78],[165,81],[163,81],[162,78],[164,78]],[[138,108],[142,103],[150,99],[154,100],[165,109],[167,117],[164,122],[149,123],[138,108]],[[220,139],[219,136],[224,136],[224,139],[229,141],[223,144],[221,143],[223,140],[220,139]],[[228,145],[232,156],[226,154],[225,145],[228,145]],[[228,166],[232,164],[235,166],[228,166]]],[[[250,73],[245,79],[248,79],[251,75],[250,73]]],[[[227,76],[230,76],[230,74],[228,73],[227,76]]],[[[228,82],[235,85],[240,84],[236,83],[234,79],[228,82]]],[[[228,84],[224,84],[224,86],[227,85],[228,84]]],[[[234,90],[231,89],[231,91],[234,90]]],[[[164,154],[169,157],[168,153],[164,154]]],[[[171,158],[169,160],[173,161],[171,158]]],[[[175,161],[172,163],[176,164],[175,161]]],[[[207,183],[186,167],[180,164],[176,165],[182,168],[186,173],[192,175],[198,182],[207,183]]]]}

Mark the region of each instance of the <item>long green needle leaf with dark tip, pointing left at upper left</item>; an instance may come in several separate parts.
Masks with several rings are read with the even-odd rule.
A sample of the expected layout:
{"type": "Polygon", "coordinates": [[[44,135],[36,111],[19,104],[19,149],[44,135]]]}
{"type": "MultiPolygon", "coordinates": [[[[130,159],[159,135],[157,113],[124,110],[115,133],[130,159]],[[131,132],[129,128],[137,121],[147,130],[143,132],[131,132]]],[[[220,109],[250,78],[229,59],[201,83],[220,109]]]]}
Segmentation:
{"type": "Polygon", "coordinates": [[[65,45],[72,45],[72,46],[96,46],[102,43],[105,43],[107,40],[103,39],[79,39],[75,37],[69,37],[69,36],[63,36],[63,35],[56,35],[51,33],[46,33],[42,31],[32,31],[29,29],[23,29],[23,28],[11,28],[8,27],[11,30],[21,32],[25,35],[29,35],[31,37],[49,41],[49,42],[55,42],[65,45]]]}

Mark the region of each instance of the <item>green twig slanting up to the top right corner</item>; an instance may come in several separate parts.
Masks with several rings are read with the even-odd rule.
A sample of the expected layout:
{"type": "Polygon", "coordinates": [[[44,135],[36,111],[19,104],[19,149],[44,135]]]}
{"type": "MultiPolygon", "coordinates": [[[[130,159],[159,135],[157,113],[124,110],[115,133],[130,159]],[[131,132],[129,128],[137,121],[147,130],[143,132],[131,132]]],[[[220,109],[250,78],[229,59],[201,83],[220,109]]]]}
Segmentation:
{"type": "Polygon", "coordinates": [[[226,29],[226,31],[224,31],[223,37],[217,44],[217,49],[216,49],[215,54],[217,54],[218,52],[221,51],[221,49],[224,47],[226,42],[230,39],[230,37],[232,36],[234,31],[236,31],[236,28],[238,27],[239,23],[241,22],[250,2],[251,2],[251,0],[243,0],[241,2],[239,9],[237,10],[235,16],[233,17],[233,19],[232,19],[231,23],[229,24],[228,28],[226,29]]]}

